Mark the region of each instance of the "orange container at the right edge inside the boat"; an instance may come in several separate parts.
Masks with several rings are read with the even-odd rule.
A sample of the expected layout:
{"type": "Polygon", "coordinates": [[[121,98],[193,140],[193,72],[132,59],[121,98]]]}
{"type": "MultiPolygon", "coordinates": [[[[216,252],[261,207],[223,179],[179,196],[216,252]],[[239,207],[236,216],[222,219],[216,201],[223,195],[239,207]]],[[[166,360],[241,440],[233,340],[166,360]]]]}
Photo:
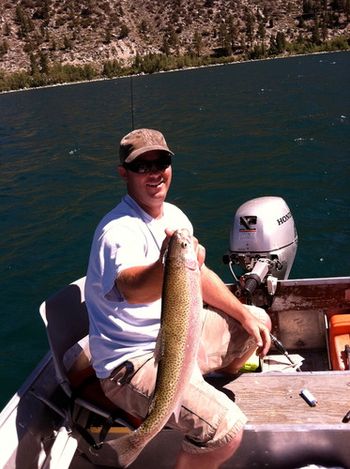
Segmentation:
{"type": "Polygon", "coordinates": [[[350,346],[350,314],[335,314],[329,322],[329,351],[333,370],[349,370],[345,346],[350,346]]]}

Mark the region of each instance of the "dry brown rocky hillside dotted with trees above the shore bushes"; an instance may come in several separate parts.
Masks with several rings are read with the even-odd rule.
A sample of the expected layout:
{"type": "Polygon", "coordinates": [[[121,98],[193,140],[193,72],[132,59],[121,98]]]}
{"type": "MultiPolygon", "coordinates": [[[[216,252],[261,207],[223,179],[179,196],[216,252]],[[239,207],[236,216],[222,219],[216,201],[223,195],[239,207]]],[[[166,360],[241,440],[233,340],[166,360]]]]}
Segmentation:
{"type": "Polygon", "coordinates": [[[252,58],[335,37],[349,46],[349,17],[350,0],[1,0],[0,71],[151,53],[252,58]]]}

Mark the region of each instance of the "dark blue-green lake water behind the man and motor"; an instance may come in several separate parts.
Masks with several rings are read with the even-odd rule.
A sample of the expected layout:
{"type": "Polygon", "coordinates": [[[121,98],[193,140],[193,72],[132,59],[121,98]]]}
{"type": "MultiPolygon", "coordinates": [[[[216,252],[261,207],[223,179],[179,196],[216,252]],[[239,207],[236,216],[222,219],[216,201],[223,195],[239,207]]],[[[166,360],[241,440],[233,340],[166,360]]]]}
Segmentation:
{"type": "MultiPolygon", "coordinates": [[[[134,78],[136,127],[176,152],[169,200],[192,219],[225,281],[229,227],[278,195],[299,233],[291,277],[350,274],[350,53],[134,78]]],[[[40,303],[85,275],[101,216],[124,193],[117,146],[130,80],[0,96],[0,404],[47,350],[40,303]]]]}

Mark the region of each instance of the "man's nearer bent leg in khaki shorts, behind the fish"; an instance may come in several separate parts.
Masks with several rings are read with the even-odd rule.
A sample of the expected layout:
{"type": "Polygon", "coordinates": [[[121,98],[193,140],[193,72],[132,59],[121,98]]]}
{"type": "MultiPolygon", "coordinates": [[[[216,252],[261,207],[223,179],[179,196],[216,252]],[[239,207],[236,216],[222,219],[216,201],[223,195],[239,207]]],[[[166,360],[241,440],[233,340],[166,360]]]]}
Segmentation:
{"type": "MultiPolygon", "coordinates": [[[[101,384],[112,402],[130,414],[145,417],[155,385],[156,366],[152,354],[133,360],[133,364],[135,374],[130,383],[120,387],[105,379],[101,384]]],[[[184,392],[179,418],[173,414],[168,422],[169,427],[185,435],[177,469],[218,468],[238,448],[246,421],[239,407],[207,383],[196,367],[184,392]]]]}

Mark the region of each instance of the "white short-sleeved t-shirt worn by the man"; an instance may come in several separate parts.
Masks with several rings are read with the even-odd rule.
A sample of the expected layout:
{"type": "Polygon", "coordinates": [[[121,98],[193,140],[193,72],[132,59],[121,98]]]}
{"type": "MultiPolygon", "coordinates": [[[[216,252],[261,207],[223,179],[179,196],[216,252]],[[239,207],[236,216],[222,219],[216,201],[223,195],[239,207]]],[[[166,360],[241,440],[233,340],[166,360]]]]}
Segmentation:
{"type": "Polygon", "coordinates": [[[155,348],[161,300],[129,304],[115,285],[124,269],[149,265],[159,258],[165,228],[187,228],[187,216],[164,203],[164,215],[154,219],[126,195],[99,223],[92,242],[85,283],[90,322],[90,350],[99,378],[107,378],[120,363],[155,348]]]}

